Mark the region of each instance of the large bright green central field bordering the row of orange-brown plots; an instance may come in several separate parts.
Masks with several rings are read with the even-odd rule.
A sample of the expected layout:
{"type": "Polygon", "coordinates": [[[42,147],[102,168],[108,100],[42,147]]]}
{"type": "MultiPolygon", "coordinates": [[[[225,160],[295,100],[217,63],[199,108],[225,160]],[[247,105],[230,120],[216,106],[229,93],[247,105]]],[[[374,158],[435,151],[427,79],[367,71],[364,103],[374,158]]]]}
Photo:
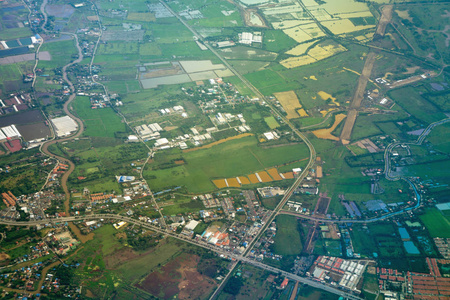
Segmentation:
{"type": "Polygon", "coordinates": [[[191,192],[206,192],[214,190],[211,179],[246,175],[307,156],[304,144],[264,149],[258,146],[255,137],[245,137],[188,153],[179,150],[159,152],[155,162],[149,165],[150,169],[144,171],[144,176],[154,191],[168,186],[185,186],[191,192]],[[164,163],[180,158],[186,164],[160,168],[164,163]]]}

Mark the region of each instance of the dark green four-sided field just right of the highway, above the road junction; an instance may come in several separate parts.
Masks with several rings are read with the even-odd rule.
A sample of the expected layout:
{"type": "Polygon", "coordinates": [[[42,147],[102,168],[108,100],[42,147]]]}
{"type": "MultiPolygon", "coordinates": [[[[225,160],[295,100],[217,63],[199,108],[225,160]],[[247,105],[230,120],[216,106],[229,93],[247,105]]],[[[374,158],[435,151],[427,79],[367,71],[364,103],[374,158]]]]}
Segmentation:
{"type": "Polygon", "coordinates": [[[297,218],[279,215],[276,218],[277,233],[275,235],[274,252],[281,255],[297,255],[302,252],[302,242],[297,229],[297,218]]]}

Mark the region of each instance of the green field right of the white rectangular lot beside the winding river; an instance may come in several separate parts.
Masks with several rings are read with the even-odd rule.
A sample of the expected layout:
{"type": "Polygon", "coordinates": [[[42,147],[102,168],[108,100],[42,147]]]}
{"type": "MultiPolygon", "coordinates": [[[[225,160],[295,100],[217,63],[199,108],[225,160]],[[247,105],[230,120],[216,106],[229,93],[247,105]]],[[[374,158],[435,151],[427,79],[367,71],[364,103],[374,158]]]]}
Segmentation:
{"type": "Polygon", "coordinates": [[[88,97],[77,97],[73,109],[84,122],[85,136],[114,137],[114,133],[126,131],[125,124],[111,108],[91,109],[88,97]]]}

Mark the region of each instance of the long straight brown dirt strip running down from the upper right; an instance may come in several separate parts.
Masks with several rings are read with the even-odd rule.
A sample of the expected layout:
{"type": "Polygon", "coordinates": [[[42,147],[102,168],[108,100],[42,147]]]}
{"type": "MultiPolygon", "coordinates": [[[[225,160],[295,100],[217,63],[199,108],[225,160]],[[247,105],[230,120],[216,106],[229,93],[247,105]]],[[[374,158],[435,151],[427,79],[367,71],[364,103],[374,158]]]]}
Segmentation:
{"type": "MultiPolygon", "coordinates": [[[[381,36],[384,35],[386,26],[391,22],[392,7],[393,7],[392,5],[385,5],[382,8],[382,15],[380,21],[378,22],[378,27],[376,31],[376,33],[381,36]]],[[[361,72],[361,76],[359,76],[358,86],[356,87],[352,103],[350,104],[350,110],[347,115],[347,120],[345,120],[344,128],[342,129],[340,140],[343,144],[350,143],[353,126],[355,125],[356,117],[358,116],[358,109],[361,105],[361,101],[364,99],[364,91],[366,90],[367,82],[369,81],[370,74],[372,73],[375,59],[376,53],[370,51],[367,54],[366,61],[364,63],[364,68],[361,72]]]]}

